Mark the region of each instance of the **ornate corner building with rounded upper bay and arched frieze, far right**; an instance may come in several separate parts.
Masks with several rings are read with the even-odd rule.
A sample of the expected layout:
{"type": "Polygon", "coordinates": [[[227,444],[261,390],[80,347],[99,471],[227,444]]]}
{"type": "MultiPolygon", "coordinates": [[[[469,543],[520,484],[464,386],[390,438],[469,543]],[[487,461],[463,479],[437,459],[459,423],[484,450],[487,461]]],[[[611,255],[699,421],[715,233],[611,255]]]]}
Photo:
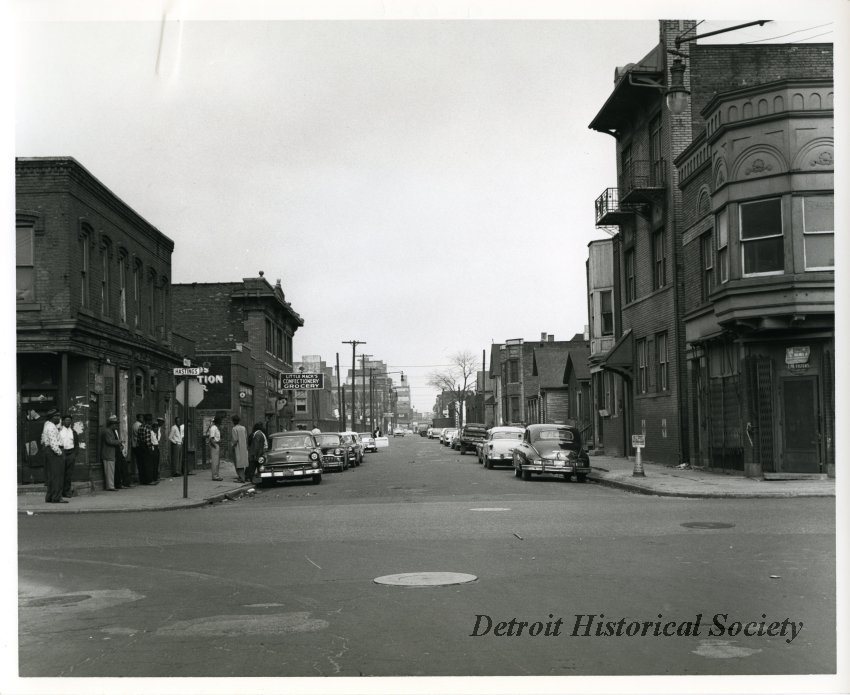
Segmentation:
{"type": "Polygon", "coordinates": [[[756,477],[835,475],[832,51],[807,48],[809,78],[715,94],[676,160],[691,457],[756,477]]]}

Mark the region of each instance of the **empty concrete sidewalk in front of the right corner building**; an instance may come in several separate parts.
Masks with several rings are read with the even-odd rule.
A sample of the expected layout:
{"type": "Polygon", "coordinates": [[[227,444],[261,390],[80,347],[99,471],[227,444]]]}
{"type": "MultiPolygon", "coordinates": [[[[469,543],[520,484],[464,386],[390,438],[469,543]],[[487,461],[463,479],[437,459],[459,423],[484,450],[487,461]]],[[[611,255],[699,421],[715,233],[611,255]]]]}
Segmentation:
{"type": "Polygon", "coordinates": [[[761,480],[699,469],[644,463],[644,477],[634,477],[634,460],[591,456],[590,480],[631,492],[666,497],[835,497],[835,478],[761,480]]]}

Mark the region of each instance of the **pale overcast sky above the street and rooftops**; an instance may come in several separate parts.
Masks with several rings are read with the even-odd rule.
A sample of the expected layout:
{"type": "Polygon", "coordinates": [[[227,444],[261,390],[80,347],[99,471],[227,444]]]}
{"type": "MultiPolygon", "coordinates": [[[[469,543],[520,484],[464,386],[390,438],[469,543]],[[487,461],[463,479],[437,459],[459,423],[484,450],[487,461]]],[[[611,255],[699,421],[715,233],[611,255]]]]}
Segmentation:
{"type": "MultiPolygon", "coordinates": [[[[427,374],[452,353],[583,331],[593,202],[616,185],[614,140],[587,126],[658,15],[201,21],[173,3],[163,23],[38,6],[62,21],[16,29],[15,154],[76,158],[174,240],[174,283],[281,278],[304,318],[296,360],[350,367],[341,341],[366,341],[429,412],[427,374]]],[[[724,38],[832,41],[829,22],[724,38]]]]}

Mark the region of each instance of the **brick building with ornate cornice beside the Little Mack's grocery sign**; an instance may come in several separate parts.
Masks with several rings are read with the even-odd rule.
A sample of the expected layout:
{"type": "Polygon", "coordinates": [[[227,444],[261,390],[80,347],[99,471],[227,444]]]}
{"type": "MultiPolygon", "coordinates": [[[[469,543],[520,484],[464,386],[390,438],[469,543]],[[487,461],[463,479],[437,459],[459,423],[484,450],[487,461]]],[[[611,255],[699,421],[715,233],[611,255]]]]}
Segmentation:
{"type": "Polygon", "coordinates": [[[238,413],[250,430],[264,422],[269,432],[291,429],[294,393],[281,388],[281,375],[293,371],[292,337],[304,325],[283,294],[260,271],[240,282],[175,284],[172,313],[195,341],[196,362],[207,367],[204,399],[190,415],[202,436],[216,415],[238,413]]]}

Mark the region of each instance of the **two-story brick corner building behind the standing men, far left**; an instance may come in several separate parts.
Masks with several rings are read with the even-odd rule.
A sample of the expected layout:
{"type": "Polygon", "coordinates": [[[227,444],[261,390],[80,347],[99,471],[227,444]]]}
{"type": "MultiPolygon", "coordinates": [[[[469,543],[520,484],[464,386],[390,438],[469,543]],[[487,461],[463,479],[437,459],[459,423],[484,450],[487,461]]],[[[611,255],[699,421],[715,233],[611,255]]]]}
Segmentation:
{"type": "Polygon", "coordinates": [[[71,157],[18,158],[15,180],[18,479],[42,479],[55,409],[84,445],[74,479],[99,481],[110,415],[125,442],[136,413],[171,421],[178,340],[191,351],[171,330],[174,243],[71,157]]]}

